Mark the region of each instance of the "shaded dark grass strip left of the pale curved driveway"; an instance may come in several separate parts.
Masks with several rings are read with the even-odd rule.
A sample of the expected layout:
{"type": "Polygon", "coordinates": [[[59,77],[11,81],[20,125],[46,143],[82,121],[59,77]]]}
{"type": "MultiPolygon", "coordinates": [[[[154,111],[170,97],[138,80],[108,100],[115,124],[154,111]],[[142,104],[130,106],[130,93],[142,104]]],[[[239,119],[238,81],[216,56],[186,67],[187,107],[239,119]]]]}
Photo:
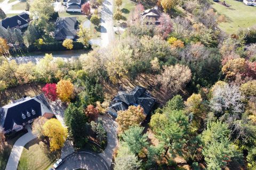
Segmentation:
{"type": "Polygon", "coordinates": [[[15,135],[15,138],[6,140],[7,146],[5,146],[4,149],[0,151],[0,170],[5,169],[14,143],[25,133],[27,133],[27,131],[20,131],[15,135]]]}

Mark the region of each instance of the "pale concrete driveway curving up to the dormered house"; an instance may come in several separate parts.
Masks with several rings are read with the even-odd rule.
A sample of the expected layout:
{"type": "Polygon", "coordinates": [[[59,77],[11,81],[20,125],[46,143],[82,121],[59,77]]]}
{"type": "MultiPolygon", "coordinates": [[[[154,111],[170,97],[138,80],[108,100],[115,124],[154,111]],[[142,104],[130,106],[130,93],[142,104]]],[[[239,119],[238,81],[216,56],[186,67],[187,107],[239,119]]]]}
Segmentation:
{"type": "Polygon", "coordinates": [[[7,165],[5,170],[14,170],[17,169],[20,156],[22,154],[23,147],[28,143],[30,140],[35,139],[36,137],[32,134],[31,129],[28,129],[28,133],[20,137],[12,147],[12,152],[10,154],[10,157],[8,159],[7,165]]]}

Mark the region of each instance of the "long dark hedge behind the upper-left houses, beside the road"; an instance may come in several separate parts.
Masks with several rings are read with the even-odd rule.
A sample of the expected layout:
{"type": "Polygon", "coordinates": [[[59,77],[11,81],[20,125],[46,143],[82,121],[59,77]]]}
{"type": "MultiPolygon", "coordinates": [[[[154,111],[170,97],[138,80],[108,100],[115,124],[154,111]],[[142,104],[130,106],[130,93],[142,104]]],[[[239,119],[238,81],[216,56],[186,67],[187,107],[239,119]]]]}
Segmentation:
{"type": "MultiPolygon", "coordinates": [[[[88,47],[84,47],[84,45],[80,42],[73,42],[73,50],[77,49],[90,49],[91,45],[88,47]]],[[[55,42],[55,43],[47,43],[40,45],[39,48],[35,45],[28,46],[28,52],[57,52],[57,51],[66,51],[69,50],[66,47],[62,46],[62,42],[55,42]]]]}

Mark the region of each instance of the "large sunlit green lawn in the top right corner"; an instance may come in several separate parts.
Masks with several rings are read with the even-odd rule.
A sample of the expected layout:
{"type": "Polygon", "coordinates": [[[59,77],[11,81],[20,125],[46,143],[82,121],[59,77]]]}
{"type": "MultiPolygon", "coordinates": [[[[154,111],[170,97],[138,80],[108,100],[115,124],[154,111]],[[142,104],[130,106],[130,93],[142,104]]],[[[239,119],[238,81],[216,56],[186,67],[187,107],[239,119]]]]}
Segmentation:
{"type": "Polygon", "coordinates": [[[227,33],[233,33],[239,28],[248,28],[256,24],[255,6],[247,6],[243,2],[234,0],[226,0],[226,4],[231,6],[225,7],[215,2],[212,4],[212,7],[217,10],[218,14],[226,16],[227,22],[219,24],[221,30],[227,33]]]}

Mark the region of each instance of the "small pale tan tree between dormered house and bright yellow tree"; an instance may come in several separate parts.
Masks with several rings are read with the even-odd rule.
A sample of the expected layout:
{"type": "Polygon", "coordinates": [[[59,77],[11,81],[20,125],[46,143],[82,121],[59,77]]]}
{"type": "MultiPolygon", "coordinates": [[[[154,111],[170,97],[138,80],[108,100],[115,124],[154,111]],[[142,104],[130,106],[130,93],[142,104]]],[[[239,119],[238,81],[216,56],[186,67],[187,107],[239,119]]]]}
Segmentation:
{"type": "Polygon", "coordinates": [[[44,137],[44,129],[43,126],[47,122],[47,118],[45,117],[37,117],[32,125],[32,133],[36,135],[38,139],[42,139],[44,137]]]}

